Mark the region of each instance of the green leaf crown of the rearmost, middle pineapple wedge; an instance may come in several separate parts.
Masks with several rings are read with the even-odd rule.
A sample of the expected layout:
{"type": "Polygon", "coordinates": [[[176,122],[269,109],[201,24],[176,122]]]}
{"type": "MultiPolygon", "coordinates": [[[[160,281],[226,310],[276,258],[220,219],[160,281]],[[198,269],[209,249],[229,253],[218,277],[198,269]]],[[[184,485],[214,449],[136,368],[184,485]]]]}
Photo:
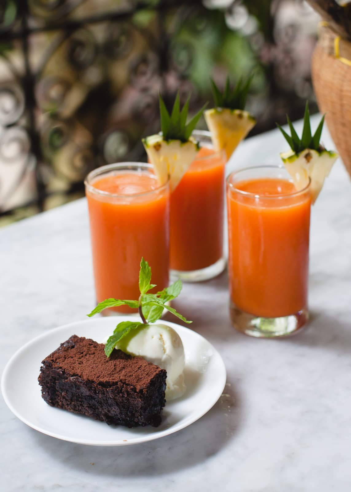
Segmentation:
{"type": "Polygon", "coordinates": [[[210,79],[215,106],[217,108],[243,110],[245,108],[247,94],[249,92],[252,79],[253,74],[251,74],[250,77],[246,79],[246,81],[244,81],[244,79],[240,77],[238,83],[233,88],[231,88],[228,76],[226,87],[223,92],[221,92],[214,81],[210,79]]]}

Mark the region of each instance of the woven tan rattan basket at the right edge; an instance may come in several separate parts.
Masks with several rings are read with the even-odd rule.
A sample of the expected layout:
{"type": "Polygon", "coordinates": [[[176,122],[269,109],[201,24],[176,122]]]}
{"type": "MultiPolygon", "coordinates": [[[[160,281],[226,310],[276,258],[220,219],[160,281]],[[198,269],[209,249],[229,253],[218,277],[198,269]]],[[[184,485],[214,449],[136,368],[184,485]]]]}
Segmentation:
{"type": "Polygon", "coordinates": [[[312,82],[321,113],[351,176],[351,43],[322,26],[312,58],[312,82]]]}

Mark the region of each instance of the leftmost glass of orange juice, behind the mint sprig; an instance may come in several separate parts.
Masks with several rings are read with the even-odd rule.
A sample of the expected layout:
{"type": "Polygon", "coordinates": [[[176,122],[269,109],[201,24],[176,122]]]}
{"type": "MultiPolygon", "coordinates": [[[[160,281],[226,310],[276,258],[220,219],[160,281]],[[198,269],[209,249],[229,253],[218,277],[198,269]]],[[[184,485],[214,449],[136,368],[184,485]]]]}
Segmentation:
{"type": "MultiPolygon", "coordinates": [[[[91,171],[85,185],[96,301],[138,299],[142,257],[151,267],[155,292],[167,287],[169,182],[160,186],[149,164],[124,162],[91,171]]],[[[134,311],[120,306],[103,313],[134,311]]]]}

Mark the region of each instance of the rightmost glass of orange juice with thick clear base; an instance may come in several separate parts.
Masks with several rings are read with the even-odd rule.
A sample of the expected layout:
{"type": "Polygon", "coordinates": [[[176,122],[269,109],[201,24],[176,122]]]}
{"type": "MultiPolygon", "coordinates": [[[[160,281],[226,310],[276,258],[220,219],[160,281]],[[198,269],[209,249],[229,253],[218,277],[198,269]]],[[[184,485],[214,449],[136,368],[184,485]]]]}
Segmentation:
{"type": "Polygon", "coordinates": [[[227,178],[230,312],[254,337],[291,335],[308,320],[311,199],[284,167],[260,166],[227,178]]]}

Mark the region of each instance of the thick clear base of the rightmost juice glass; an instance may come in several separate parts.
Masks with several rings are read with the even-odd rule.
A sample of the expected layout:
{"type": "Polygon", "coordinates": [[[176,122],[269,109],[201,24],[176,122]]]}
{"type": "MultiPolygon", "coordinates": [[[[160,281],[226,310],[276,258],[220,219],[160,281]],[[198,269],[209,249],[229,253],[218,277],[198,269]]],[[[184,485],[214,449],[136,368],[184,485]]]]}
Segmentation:
{"type": "Polygon", "coordinates": [[[263,318],[242,311],[231,302],[230,313],[234,328],[256,338],[284,338],[295,335],[308,321],[307,308],[279,318],[263,318]]]}

